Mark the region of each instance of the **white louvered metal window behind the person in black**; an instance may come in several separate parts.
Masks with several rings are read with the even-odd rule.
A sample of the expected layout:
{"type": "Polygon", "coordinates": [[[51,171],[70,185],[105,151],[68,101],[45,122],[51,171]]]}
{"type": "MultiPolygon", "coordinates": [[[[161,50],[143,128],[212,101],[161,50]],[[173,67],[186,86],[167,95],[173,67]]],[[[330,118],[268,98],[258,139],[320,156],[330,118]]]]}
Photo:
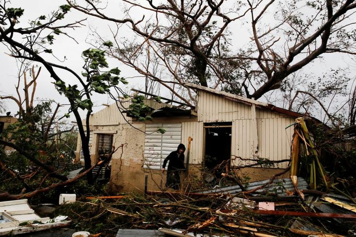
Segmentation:
{"type": "Polygon", "coordinates": [[[146,124],[144,168],[161,169],[163,160],[181,143],[182,124],[146,124]],[[164,128],[164,134],[157,128],[164,128]]]}

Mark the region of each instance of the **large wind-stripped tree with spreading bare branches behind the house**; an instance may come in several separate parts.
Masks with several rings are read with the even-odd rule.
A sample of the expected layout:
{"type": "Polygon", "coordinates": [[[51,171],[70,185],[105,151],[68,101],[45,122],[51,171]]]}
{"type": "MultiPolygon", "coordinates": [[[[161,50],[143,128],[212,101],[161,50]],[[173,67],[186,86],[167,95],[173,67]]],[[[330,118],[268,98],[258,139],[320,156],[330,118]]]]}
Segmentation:
{"type": "Polygon", "coordinates": [[[177,92],[184,82],[213,88],[222,85],[224,90],[257,99],[325,53],[355,54],[354,0],[246,0],[234,4],[124,0],[127,18],[122,19],[106,13],[100,1],[85,0],[87,5],[67,2],[90,16],[114,22],[111,32],[116,48],[111,48],[111,56],[158,81],[186,103],[193,99],[189,90],[186,96],[177,92]],[[142,13],[141,20],[135,20],[137,12],[149,17],[142,13]],[[239,48],[235,42],[243,36],[236,32],[248,26],[246,22],[252,41],[239,48]],[[136,38],[122,38],[124,27],[136,38]],[[150,58],[164,73],[157,75],[142,66],[142,58],[150,58]]]}

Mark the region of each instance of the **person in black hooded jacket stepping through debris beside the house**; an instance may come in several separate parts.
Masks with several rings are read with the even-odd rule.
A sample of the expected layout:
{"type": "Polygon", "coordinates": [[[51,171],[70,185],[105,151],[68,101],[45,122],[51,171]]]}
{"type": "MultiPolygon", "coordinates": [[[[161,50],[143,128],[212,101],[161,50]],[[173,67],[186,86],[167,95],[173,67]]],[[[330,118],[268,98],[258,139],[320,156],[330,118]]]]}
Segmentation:
{"type": "Polygon", "coordinates": [[[179,189],[180,185],[180,176],[179,173],[181,170],[185,170],[184,167],[184,151],[185,146],[181,143],[178,145],[177,151],[172,151],[169,153],[166,159],[163,161],[162,173],[166,170],[167,167],[167,182],[166,188],[179,189]]]}

